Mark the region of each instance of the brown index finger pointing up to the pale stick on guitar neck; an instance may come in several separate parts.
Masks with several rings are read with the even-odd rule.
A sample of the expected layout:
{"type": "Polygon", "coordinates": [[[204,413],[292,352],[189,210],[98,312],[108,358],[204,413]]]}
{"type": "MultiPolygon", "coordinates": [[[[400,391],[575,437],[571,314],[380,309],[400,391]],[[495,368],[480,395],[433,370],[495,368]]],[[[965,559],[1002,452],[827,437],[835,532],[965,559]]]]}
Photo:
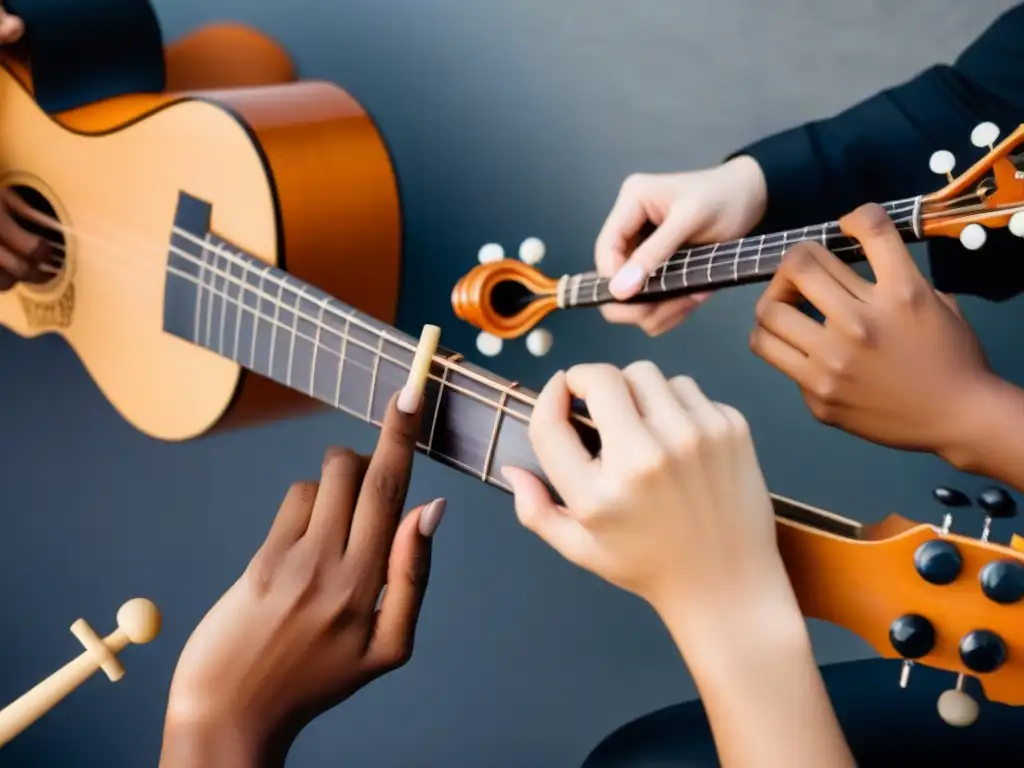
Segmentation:
{"type": "Polygon", "coordinates": [[[357,562],[368,568],[383,564],[391,549],[394,531],[406,506],[419,432],[420,411],[402,413],[397,408],[397,397],[392,397],[352,519],[349,551],[357,562]]]}

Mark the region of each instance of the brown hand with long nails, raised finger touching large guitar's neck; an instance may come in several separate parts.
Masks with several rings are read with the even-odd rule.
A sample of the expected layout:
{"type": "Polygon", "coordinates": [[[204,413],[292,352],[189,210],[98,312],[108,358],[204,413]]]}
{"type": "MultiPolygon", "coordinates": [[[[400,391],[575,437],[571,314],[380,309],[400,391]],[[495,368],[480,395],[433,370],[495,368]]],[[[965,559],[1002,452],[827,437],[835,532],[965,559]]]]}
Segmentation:
{"type": "Polygon", "coordinates": [[[283,764],[309,721],[411,657],[444,510],[399,524],[418,424],[392,401],[372,457],[329,451],[319,483],[289,489],[181,653],[162,766],[283,764]]]}

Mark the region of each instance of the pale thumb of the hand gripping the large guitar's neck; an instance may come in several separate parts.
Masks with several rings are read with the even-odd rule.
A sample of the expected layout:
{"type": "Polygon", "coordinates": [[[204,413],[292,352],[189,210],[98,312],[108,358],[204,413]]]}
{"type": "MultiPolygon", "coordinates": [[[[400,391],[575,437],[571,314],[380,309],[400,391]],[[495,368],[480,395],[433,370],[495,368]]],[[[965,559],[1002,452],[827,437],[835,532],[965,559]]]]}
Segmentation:
{"type": "Polygon", "coordinates": [[[519,467],[503,467],[502,474],[512,487],[519,523],[569,562],[586,567],[590,544],[587,529],[568,510],[555,504],[537,475],[519,467]]]}

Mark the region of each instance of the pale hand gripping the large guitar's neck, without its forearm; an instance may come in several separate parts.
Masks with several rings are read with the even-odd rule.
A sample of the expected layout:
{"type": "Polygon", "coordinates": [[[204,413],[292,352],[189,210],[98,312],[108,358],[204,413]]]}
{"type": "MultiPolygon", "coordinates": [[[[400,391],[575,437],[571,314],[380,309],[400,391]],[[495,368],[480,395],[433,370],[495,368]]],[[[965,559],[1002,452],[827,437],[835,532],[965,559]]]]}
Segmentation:
{"type": "Polygon", "coordinates": [[[729,621],[730,608],[788,588],[746,421],[692,379],[666,380],[647,361],[577,366],[545,386],[529,436],[565,506],[534,474],[505,467],[520,522],[663,618],[729,621]],[[600,434],[598,458],[569,421],[573,395],[600,434]]]}

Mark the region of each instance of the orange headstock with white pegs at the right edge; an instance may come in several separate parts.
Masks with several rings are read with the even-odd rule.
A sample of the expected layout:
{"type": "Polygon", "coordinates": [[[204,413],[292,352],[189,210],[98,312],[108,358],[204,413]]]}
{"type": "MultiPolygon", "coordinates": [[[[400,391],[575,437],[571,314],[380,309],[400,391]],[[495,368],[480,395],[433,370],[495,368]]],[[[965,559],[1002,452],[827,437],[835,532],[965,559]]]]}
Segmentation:
{"type": "Polygon", "coordinates": [[[998,136],[993,123],[978,125],[971,142],[988,154],[955,178],[952,153],[932,155],[930,168],[949,183],[922,198],[923,237],[957,238],[972,251],[985,244],[988,229],[1008,227],[1024,238],[1024,125],[995,144],[998,136]]]}

